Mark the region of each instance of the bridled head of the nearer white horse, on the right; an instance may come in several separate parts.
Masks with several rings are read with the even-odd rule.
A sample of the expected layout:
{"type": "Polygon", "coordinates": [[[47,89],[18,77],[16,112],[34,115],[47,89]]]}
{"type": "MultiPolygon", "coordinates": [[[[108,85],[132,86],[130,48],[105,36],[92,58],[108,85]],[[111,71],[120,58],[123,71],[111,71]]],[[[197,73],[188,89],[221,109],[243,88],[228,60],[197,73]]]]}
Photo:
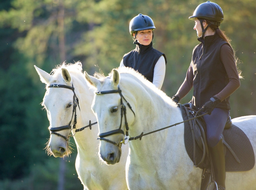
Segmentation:
{"type": "Polygon", "coordinates": [[[99,126],[99,155],[107,164],[119,162],[121,157],[121,142],[126,135],[126,122],[132,124],[135,118],[135,106],[126,100],[127,90],[119,88],[120,74],[113,69],[112,75],[100,79],[84,72],[88,84],[96,89],[92,110],[99,126]],[[127,108],[126,108],[127,107],[127,108]],[[125,109],[126,108],[126,109],[125,109]]]}

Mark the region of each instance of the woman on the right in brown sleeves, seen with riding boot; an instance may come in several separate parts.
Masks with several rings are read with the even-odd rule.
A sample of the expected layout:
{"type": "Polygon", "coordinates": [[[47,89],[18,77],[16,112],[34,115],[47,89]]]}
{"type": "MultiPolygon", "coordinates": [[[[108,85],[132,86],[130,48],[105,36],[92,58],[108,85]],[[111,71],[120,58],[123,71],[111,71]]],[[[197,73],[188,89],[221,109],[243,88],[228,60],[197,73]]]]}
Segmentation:
{"type": "Polygon", "coordinates": [[[230,95],[240,86],[235,52],[218,27],[223,21],[219,5],[200,4],[189,19],[195,21],[199,45],[194,47],[186,78],[172,100],[180,101],[194,87],[192,103],[204,116],[207,143],[218,189],[225,190],[225,155],[221,134],[229,117],[230,95]]]}

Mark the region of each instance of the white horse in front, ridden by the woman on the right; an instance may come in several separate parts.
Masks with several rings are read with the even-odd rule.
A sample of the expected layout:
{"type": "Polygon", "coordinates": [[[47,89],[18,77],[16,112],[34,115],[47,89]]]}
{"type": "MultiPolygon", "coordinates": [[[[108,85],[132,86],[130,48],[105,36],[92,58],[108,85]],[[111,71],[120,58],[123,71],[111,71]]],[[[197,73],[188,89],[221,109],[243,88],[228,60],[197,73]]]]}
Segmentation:
{"type": "MultiPolygon", "coordinates": [[[[127,131],[120,115],[122,102],[127,107],[131,137],[140,135],[142,131],[148,133],[183,121],[180,108],[133,69],[113,69],[108,77],[99,79],[86,72],[84,75],[96,89],[92,109],[99,124],[99,136],[104,138],[101,139],[100,156],[108,164],[115,164],[120,159],[121,149],[113,143],[121,142],[124,137],[122,131],[127,131]]],[[[256,152],[256,116],[239,117],[232,121],[249,137],[256,152]]],[[[141,140],[129,141],[128,144],[126,179],[130,190],[200,189],[202,170],[194,167],[187,155],[183,123],[143,136],[141,140]]],[[[255,167],[249,171],[226,172],[226,190],[255,188],[255,167]]]]}

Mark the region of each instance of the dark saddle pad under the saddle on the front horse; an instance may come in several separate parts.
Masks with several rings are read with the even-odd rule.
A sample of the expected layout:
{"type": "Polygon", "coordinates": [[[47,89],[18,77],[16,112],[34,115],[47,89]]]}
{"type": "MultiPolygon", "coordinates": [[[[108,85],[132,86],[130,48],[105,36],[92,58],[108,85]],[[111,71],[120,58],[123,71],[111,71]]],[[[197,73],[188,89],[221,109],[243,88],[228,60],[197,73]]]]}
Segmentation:
{"type": "MultiPolygon", "coordinates": [[[[187,120],[186,113],[182,110],[182,115],[184,121],[187,120]]],[[[225,129],[223,131],[224,140],[231,149],[235,152],[238,157],[240,163],[238,163],[234,156],[231,154],[230,150],[226,148],[226,171],[248,171],[254,167],[255,164],[255,156],[254,150],[250,143],[250,140],[245,135],[245,133],[233,125],[229,129],[225,129]]],[[[191,129],[189,126],[189,122],[184,123],[184,143],[186,147],[186,151],[190,159],[193,161],[193,138],[191,129]]],[[[196,165],[203,156],[203,151],[200,150],[198,144],[196,143],[196,165]]],[[[206,159],[205,159],[206,161],[206,159]]],[[[202,167],[200,167],[203,169],[202,167]]]]}

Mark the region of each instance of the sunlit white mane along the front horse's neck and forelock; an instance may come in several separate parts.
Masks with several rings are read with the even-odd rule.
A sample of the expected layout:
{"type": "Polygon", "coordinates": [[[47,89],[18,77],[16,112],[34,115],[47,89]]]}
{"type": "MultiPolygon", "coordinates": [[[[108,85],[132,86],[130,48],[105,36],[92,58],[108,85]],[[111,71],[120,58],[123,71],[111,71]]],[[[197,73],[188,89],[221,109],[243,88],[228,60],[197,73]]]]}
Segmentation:
{"type": "MultiPolygon", "coordinates": [[[[148,81],[145,78],[145,76],[143,76],[142,74],[140,74],[139,72],[137,72],[133,68],[119,67],[119,68],[117,68],[117,70],[119,71],[120,75],[121,74],[132,75],[132,77],[135,78],[137,82],[140,82],[143,85],[147,86],[150,90],[152,90],[156,94],[158,94],[164,101],[173,103],[171,98],[169,96],[167,96],[166,93],[164,93],[162,90],[158,89],[152,82],[148,81]]],[[[108,77],[111,77],[112,75],[113,75],[113,70],[109,73],[108,77]]],[[[105,76],[103,74],[100,74],[100,73],[95,73],[94,76],[97,77],[98,79],[105,78],[105,76]]],[[[121,80],[122,80],[122,77],[121,77],[121,80]]]]}

